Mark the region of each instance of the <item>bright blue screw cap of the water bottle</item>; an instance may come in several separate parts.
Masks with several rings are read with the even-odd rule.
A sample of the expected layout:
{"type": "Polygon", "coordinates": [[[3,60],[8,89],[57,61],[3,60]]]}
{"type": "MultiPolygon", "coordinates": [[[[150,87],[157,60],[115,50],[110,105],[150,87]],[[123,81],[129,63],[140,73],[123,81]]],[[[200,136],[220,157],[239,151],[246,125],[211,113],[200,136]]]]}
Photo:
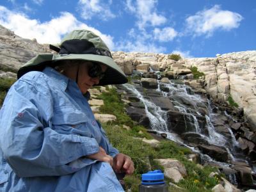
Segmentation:
{"type": "Polygon", "coordinates": [[[143,185],[164,184],[164,174],[161,170],[154,170],[152,172],[143,173],[141,180],[141,184],[143,185]]]}

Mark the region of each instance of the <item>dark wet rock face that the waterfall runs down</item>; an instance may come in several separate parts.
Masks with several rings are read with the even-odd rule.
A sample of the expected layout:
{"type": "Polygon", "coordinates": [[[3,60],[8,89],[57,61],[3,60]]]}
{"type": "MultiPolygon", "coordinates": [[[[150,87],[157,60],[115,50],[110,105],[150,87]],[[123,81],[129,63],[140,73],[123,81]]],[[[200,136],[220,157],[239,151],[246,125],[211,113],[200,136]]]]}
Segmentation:
{"type": "MultiPolygon", "coordinates": [[[[208,156],[206,159],[204,157],[198,160],[199,162],[217,166],[232,184],[252,186],[255,179],[253,180],[250,164],[255,161],[255,132],[244,121],[243,111],[214,103],[206,97],[207,95],[199,96],[195,88],[184,85],[180,80],[156,81],[159,83],[155,85],[156,88],[142,87],[140,79],[136,81],[138,83],[134,84],[134,88],[140,93],[140,97],[138,97],[138,93],[134,96],[134,90],[118,86],[127,93],[125,97],[140,98],[136,102],[131,102],[127,107],[127,114],[133,120],[156,133],[154,122],[151,122],[150,118],[152,117],[148,115],[148,112],[154,115],[154,111],[160,110],[160,113],[164,114],[162,116],[166,117],[168,132],[179,135],[186,145],[195,147],[200,153],[208,156]],[[157,89],[159,87],[160,90],[157,89]],[[180,90],[183,93],[180,93],[180,90]],[[147,101],[145,102],[144,99],[147,101]],[[148,112],[146,113],[145,104],[147,102],[152,102],[158,106],[158,109],[156,106],[147,106],[148,112]],[[218,140],[222,140],[220,145],[217,144],[218,140]],[[230,153],[244,160],[234,159],[230,153]],[[246,160],[250,164],[246,163],[246,160]]],[[[155,116],[155,118],[159,117],[155,116]]],[[[161,127],[164,126],[161,125],[161,127]]],[[[166,133],[164,138],[167,138],[166,133]]]]}

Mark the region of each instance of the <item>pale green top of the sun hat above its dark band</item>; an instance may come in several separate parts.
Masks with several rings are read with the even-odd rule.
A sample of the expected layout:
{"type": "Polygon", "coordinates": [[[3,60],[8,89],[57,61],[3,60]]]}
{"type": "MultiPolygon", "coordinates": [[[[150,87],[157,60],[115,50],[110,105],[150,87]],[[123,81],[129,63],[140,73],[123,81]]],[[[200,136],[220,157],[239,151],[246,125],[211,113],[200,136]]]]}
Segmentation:
{"type": "Polygon", "coordinates": [[[88,40],[88,42],[91,42],[95,48],[109,51],[108,46],[98,35],[86,29],[74,30],[68,33],[64,36],[63,40],[61,40],[61,44],[67,40],[88,40]]]}

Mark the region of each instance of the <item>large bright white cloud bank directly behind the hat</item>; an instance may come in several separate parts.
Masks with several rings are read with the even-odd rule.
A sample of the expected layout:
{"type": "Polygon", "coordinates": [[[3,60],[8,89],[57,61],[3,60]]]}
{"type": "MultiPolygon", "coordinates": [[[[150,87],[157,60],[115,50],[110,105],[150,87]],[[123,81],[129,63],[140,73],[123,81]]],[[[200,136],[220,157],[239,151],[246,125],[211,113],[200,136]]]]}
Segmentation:
{"type": "Polygon", "coordinates": [[[63,35],[74,29],[89,29],[99,35],[109,49],[114,47],[112,36],[100,33],[99,30],[80,22],[68,12],[62,12],[60,17],[47,22],[40,22],[40,20],[29,19],[24,13],[12,12],[0,6],[0,24],[23,38],[36,38],[40,44],[57,44],[61,42],[63,35]]]}

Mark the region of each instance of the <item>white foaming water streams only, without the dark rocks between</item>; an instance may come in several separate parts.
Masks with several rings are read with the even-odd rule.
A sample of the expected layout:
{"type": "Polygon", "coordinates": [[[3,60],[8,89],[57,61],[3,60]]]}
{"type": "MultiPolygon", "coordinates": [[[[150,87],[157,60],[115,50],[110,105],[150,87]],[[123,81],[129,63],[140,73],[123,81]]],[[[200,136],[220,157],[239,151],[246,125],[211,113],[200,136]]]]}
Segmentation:
{"type": "MultiPolygon", "coordinates": [[[[214,113],[212,113],[212,109],[211,109],[209,100],[207,100],[207,102],[206,102],[207,109],[208,109],[208,115],[205,115],[205,119],[207,122],[207,131],[209,132],[209,136],[205,136],[200,131],[200,126],[198,124],[198,120],[197,120],[196,116],[193,115],[193,113],[194,114],[196,113],[198,116],[202,116],[198,112],[198,107],[196,106],[196,103],[205,102],[205,100],[202,99],[202,97],[200,97],[200,95],[189,94],[188,93],[189,87],[184,84],[175,84],[175,83],[171,83],[171,82],[170,83],[159,83],[159,81],[157,81],[157,83],[158,83],[158,86],[156,89],[157,92],[161,92],[161,90],[160,90],[161,86],[164,86],[170,90],[168,93],[162,92],[163,97],[170,97],[172,95],[177,95],[179,97],[186,98],[187,100],[189,100],[190,106],[192,108],[188,108],[188,107],[184,106],[184,104],[181,104],[177,100],[173,101],[173,104],[175,104],[175,108],[179,109],[179,111],[181,113],[184,113],[184,115],[191,118],[190,119],[191,122],[193,120],[194,125],[195,125],[195,132],[197,134],[202,136],[202,138],[205,138],[212,145],[219,145],[221,147],[224,147],[227,150],[228,155],[230,156],[230,158],[233,161],[238,160],[238,159],[236,159],[236,157],[234,157],[234,155],[232,154],[230,149],[227,147],[227,138],[225,138],[225,136],[221,135],[220,133],[216,132],[214,129],[214,126],[212,125],[211,118],[212,118],[212,115],[214,115],[214,113]]],[[[141,95],[141,93],[138,92],[138,90],[136,90],[136,88],[134,88],[134,86],[132,84],[124,84],[124,86],[125,86],[125,88],[127,88],[127,90],[130,90],[131,92],[135,93],[136,97],[138,97],[140,99],[140,101],[143,102],[143,104],[145,105],[145,112],[150,120],[150,127],[154,131],[157,131],[158,133],[164,132],[167,134],[167,138],[169,140],[173,140],[177,143],[184,145],[184,142],[177,134],[168,131],[168,125],[166,123],[166,121],[167,121],[166,113],[163,110],[161,110],[161,108],[156,106],[156,104],[154,104],[153,102],[150,102],[150,100],[145,99],[143,97],[143,95],[141,95]]],[[[228,131],[230,132],[233,146],[238,146],[239,143],[237,143],[233,132],[230,129],[228,129],[228,131]]],[[[185,145],[185,146],[189,147],[188,145],[185,145]]],[[[191,150],[193,150],[195,152],[198,152],[193,147],[189,147],[189,148],[191,148],[191,150]]],[[[203,156],[205,156],[205,155],[203,155],[203,156]]],[[[206,159],[208,159],[209,161],[214,161],[209,156],[206,159]]],[[[241,159],[239,159],[239,160],[241,160],[241,159]]],[[[214,161],[214,162],[216,162],[216,161],[214,161]]],[[[226,163],[221,163],[221,164],[228,166],[228,164],[226,164],[226,163]]]]}

